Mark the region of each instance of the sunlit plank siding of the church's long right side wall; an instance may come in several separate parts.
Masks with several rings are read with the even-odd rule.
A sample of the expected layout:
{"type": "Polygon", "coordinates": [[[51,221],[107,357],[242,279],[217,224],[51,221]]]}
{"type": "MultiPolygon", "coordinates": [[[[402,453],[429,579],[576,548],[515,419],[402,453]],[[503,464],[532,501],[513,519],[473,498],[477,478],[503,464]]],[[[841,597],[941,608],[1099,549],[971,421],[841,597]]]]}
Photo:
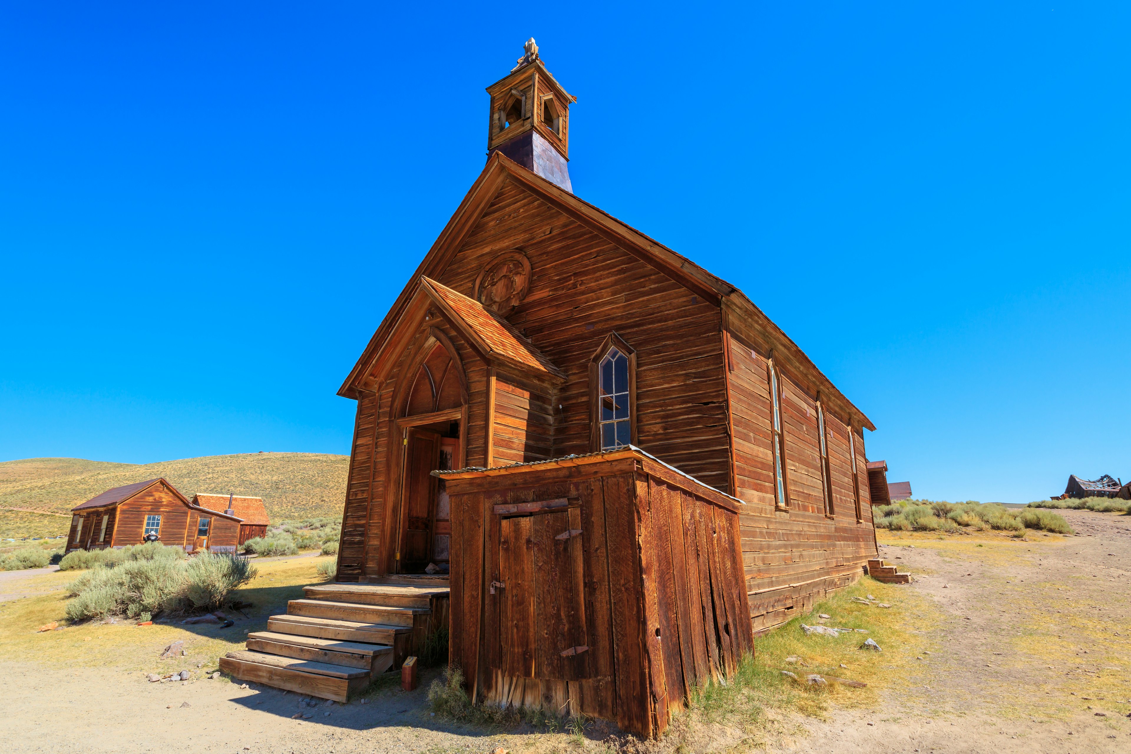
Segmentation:
{"type": "MultiPolygon", "coordinates": [[[[754,631],[765,631],[809,609],[830,589],[847,586],[875,554],[866,483],[863,520],[856,520],[848,427],[826,409],[834,514],[824,514],[817,400],[782,372],[786,485],[789,510],[774,505],[772,434],[766,352],[729,333],[731,421],[734,427],[735,496],[748,503],[740,517],[742,551],[754,631]]],[[[864,478],[864,441],[856,435],[857,469],[864,478]]]]}

